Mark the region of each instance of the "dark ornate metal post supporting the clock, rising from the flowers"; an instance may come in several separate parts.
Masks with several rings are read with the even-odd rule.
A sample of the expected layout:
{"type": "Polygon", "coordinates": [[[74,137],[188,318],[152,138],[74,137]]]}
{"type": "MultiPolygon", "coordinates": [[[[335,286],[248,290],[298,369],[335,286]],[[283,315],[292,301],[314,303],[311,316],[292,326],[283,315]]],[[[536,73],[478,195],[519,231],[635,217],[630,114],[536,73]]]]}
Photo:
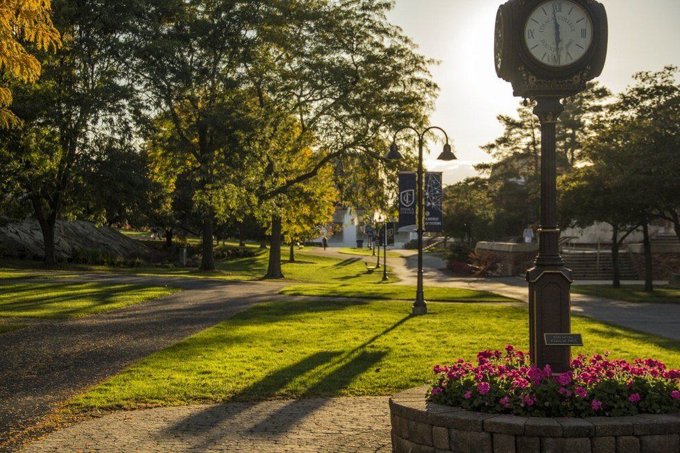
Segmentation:
{"type": "Polygon", "coordinates": [[[554,373],[570,370],[570,347],[547,345],[545,334],[571,332],[571,271],[559,254],[556,189],[556,122],[564,107],[559,98],[539,97],[534,114],[541,121],[541,226],[538,255],[527,271],[529,282],[529,350],[534,366],[554,373]]]}

